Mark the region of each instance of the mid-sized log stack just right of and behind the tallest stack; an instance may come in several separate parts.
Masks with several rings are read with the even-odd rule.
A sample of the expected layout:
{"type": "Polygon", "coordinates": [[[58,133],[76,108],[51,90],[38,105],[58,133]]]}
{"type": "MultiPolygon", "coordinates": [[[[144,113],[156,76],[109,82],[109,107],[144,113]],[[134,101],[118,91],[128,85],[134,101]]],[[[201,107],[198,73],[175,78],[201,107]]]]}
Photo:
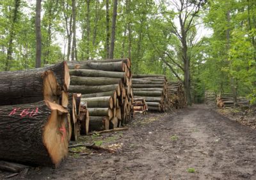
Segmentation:
{"type": "Polygon", "coordinates": [[[172,108],[164,75],[133,75],[132,91],[134,98],[144,98],[150,111],[164,112],[172,108]]]}

